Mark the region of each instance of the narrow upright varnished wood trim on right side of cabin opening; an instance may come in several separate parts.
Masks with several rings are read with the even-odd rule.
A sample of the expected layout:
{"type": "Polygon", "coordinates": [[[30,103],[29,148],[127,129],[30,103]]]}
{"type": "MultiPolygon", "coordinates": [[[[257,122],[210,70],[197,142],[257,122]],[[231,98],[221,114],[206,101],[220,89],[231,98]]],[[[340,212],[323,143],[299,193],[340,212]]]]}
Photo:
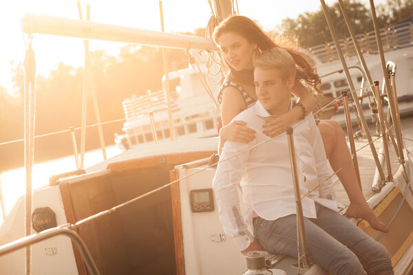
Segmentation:
{"type": "MultiPolygon", "coordinates": [[[[169,179],[179,179],[178,170],[169,172],[169,179]]],[[[180,209],[179,181],[171,185],[173,239],[175,240],[176,275],[185,274],[184,244],[182,243],[182,217],[180,209]]]]}

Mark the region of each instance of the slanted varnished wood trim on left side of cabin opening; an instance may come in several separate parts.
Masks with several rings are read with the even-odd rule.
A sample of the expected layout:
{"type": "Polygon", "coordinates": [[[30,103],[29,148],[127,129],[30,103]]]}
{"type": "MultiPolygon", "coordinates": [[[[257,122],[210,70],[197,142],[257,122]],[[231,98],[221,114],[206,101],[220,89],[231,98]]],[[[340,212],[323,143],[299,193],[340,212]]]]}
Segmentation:
{"type": "MultiPolygon", "coordinates": [[[[66,183],[59,184],[59,188],[61,191],[63,208],[65,208],[67,223],[74,224],[76,223],[76,218],[74,217],[73,204],[72,204],[72,198],[70,195],[69,184],[66,184],[66,183]]],[[[78,230],[76,229],[74,230],[78,232],[78,230]]],[[[85,262],[83,261],[81,252],[79,252],[77,246],[73,242],[72,242],[72,247],[73,247],[74,260],[76,261],[76,266],[78,269],[78,274],[87,275],[86,265],[85,265],[85,262]]]]}

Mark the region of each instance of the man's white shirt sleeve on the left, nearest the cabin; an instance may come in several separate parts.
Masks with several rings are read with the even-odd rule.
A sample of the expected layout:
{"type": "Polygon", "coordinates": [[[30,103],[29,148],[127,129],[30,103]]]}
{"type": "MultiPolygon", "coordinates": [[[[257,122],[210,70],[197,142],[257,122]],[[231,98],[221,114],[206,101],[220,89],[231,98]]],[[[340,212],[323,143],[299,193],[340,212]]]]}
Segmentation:
{"type": "Polygon", "coordinates": [[[250,153],[247,149],[253,143],[226,141],[220,160],[227,160],[218,164],[212,184],[222,228],[225,234],[231,236],[240,251],[248,248],[254,239],[242,218],[237,190],[250,153]],[[238,155],[234,156],[235,154],[238,155]]]}

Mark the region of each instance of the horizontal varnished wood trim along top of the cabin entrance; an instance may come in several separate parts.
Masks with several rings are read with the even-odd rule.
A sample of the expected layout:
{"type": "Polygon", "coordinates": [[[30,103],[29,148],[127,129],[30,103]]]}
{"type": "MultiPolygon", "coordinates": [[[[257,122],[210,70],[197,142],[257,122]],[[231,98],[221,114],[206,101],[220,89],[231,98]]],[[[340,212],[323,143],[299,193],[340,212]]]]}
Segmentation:
{"type": "Polygon", "coordinates": [[[210,157],[213,153],[216,153],[216,151],[176,153],[170,155],[156,155],[151,157],[143,157],[141,159],[128,159],[123,162],[109,163],[107,164],[107,169],[110,169],[112,171],[119,171],[159,166],[162,164],[183,164],[186,162],[192,162],[196,159],[210,157]]]}

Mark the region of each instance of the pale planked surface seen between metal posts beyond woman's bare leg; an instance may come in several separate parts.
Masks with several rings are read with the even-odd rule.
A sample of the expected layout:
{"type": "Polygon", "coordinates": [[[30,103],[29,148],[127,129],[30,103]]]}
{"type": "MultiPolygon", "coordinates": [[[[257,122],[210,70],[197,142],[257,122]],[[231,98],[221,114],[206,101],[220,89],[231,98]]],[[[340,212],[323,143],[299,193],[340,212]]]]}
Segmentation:
{"type": "MultiPolygon", "coordinates": [[[[372,137],[372,140],[375,140],[374,146],[376,148],[376,151],[377,153],[379,153],[381,139],[379,140],[376,140],[376,139],[377,137],[374,137],[374,136],[372,137]]],[[[360,151],[357,151],[357,161],[359,162],[361,187],[363,189],[363,195],[366,198],[366,200],[370,199],[370,197],[372,197],[375,194],[375,192],[372,191],[372,182],[373,182],[373,177],[374,177],[374,171],[376,170],[376,164],[374,163],[372,151],[370,149],[370,146],[368,146],[367,144],[368,144],[368,140],[366,139],[355,141],[357,150],[365,146],[364,148],[361,148],[360,151]]],[[[399,159],[394,151],[394,147],[392,143],[389,142],[388,145],[389,145],[389,151],[390,151],[390,164],[392,164],[392,174],[394,175],[394,173],[396,173],[396,171],[399,170],[399,159]]],[[[331,168],[330,168],[330,172],[333,173],[331,168]]],[[[385,161],[383,162],[383,173],[385,176],[387,176],[387,167],[385,165],[385,161]]],[[[346,191],[344,190],[343,185],[339,181],[337,175],[335,175],[332,178],[332,181],[334,184],[337,201],[339,201],[339,203],[343,204],[344,206],[348,206],[348,204],[350,203],[350,200],[348,199],[348,195],[346,194],[346,191]]]]}

